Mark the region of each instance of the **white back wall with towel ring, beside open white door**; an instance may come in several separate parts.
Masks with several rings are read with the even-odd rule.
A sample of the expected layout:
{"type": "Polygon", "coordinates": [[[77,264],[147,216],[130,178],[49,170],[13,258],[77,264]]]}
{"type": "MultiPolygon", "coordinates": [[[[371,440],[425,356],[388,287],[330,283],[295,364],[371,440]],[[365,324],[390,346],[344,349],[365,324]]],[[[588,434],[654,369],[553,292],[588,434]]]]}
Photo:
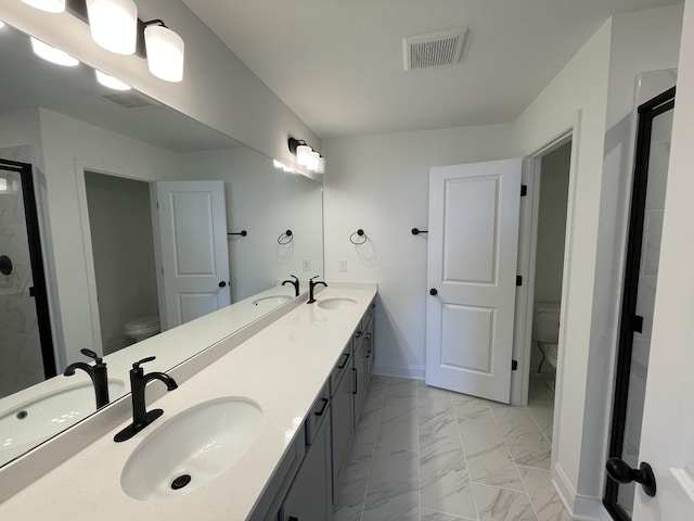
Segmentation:
{"type": "Polygon", "coordinates": [[[378,283],[376,371],[424,376],[428,168],[517,156],[510,125],[330,139],[325,277],[378,283]],[[363,228],[362,246],[349,236],[363,228]],[[347,260],[338,271],[337,260],[347,260]]]}

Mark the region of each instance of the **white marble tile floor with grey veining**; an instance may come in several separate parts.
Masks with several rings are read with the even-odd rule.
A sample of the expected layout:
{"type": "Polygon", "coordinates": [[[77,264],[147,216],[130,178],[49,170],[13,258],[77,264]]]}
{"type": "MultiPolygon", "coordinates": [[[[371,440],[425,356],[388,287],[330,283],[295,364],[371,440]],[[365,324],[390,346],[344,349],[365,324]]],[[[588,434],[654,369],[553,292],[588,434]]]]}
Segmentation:
{"type": "Polygon", "coordinates": [[[569,521],[550,482],[553,389],[528,407],[372,377],[334,521],[569,521]]]}

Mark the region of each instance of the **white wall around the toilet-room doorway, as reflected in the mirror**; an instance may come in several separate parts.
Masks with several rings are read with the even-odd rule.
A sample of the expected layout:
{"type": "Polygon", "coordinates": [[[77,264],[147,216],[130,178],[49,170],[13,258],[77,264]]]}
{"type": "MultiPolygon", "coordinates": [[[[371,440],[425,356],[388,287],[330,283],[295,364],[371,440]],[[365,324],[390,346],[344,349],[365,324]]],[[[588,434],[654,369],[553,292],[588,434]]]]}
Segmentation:
{"type": "Polygon", "coordinates": [[[54,282],[55,307],[60,307],[63,334],[56,334],[59,369],[67,360],[81,359],[79,350],[93,350],[101,339],[89,330],[93,314],[86,274],[86,255],[78,165],[143,180],[164,179],[177,168],[178,154],[61,114],[39,110],[46,161],[46,189],[53,249],[47,277],[54,282]],[[64,359],[63,359],[64,358],[64,359]]]}

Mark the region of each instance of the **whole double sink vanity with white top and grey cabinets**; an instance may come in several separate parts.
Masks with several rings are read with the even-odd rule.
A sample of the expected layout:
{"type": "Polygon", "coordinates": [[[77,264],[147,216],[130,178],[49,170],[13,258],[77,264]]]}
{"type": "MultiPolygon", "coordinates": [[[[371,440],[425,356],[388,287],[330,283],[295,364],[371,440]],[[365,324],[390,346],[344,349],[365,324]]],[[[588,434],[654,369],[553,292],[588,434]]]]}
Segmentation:
{"type": "MultiPolygon", "coordinates": [[[[331,283],[317,302],[303,295],[255,334],[231,334],[211,346],[219,356],[206,367],[195,359],[203,352],[174,368],[168,373],[178,389],[166,392],[156,381],[146,387],[147,407],[163,409],[160,418],[115,443],[131,421],[121,417],[1,504],[0,518],[329,519],[373,367],[375,294],[376,284],[331,283]]],[[[214,315],[206,320],[221,319],[214,315]]],[[[185,339],[168,336],[177,341],[185,339]]],[[[130,410],[129,402],[89,421],[98,424],[114,406],[130,410]]],[[[82,423],[83,432],[89,424],[82,423]]],[[[67,431],[48,442],[43,457],[54,459],[51,452],[66,440],[80,443],[76,436],[67,431]]]]}

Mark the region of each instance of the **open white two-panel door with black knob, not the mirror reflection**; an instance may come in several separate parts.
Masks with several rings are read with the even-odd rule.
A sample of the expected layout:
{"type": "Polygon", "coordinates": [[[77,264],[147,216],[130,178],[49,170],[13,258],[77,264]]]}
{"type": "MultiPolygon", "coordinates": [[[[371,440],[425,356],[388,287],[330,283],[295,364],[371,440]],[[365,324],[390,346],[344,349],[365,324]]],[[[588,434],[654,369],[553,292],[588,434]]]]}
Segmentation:
{"type": "Polygon", "coordinates": [[[519,201],[520,160],[429,169],[427,384],[509,403],[519,201]]]}

